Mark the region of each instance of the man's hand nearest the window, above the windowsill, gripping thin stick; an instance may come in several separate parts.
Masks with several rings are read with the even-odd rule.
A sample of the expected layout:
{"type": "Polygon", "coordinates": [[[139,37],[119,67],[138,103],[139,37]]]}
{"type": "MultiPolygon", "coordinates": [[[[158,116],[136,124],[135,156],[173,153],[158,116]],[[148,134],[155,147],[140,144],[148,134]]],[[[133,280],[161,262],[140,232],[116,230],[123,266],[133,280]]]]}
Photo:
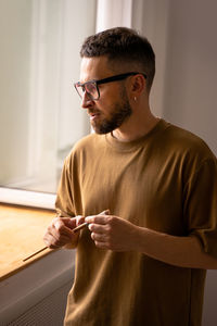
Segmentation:
{"type": "Polygon", "coordinates": [[[48,248],[55,249],[63,246],[74,248],[77,244],[79,231],[73,229],[85,222],[84,216],[55,217],[48,226],[43,241],[48,248]]]}

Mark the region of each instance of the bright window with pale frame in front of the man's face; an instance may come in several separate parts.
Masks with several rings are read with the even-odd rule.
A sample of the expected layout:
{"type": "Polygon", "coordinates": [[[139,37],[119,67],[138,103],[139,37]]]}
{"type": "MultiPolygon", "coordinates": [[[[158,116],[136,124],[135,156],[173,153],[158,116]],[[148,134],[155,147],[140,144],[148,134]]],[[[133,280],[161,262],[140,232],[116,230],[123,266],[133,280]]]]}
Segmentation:
{"type": "Polygon", "coordinates": [[[0,0],[0,186],[55,192],[65,155],[90,131],[73,82],[95,2],[0,0]]]}

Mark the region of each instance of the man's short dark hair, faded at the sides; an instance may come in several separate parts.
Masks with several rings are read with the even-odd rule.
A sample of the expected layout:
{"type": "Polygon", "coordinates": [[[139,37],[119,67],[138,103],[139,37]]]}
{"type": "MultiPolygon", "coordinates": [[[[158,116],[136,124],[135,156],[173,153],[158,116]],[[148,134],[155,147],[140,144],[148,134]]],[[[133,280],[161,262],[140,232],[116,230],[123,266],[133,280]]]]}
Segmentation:
{"type": "Polygon", "coordinates": [[[86,38],[80,57],[107,57],[110,62],[127,62],[138,65],[146,74],[150,91],[155,75],[155,54],[151,43],[135,29],[115,27],[86,38]]]}

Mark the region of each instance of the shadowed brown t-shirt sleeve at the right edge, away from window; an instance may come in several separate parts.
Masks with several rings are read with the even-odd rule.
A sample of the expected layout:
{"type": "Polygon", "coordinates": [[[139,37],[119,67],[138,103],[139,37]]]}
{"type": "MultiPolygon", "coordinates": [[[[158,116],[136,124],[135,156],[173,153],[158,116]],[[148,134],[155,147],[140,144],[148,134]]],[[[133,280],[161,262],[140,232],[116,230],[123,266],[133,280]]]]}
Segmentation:
{"type": "Polygon", "coordinates": [[[217,160],[205,160],[186,188],[189,234],[199,238],[204,251],[217,258],[217,160]]]}

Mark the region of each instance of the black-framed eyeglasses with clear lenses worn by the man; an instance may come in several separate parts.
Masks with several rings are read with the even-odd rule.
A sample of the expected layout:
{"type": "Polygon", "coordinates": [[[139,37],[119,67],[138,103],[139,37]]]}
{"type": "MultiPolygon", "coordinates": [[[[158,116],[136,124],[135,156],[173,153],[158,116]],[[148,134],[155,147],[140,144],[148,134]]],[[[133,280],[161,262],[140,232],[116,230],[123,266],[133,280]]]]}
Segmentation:
{"type": "Polygon", "coordinates": [[[111,77],[99,79],[99,80],[93,79],[93,80],[86,82],[84,84],[78,82],[78,83],[75,83],[74,86],[75,86],[75,89],[77,90],[77,93],[79,95],[79,97],[81,99],[84,98],[85,92],[87,92],[87,96],[91,101],[97,101],[100,98],[100,90],[99,90],[98,85],[105,84],[105,83],[112,83],[112,82],[116,82],[116,80],[123,80],[129,76],[135,76],[138,74],[143,75],[144,78],[146,79],[146,75],[144,73],[131,72],[131,73],[125,73],[125,74],[120,74],[120,75],[111,76],[111,77]]]}

